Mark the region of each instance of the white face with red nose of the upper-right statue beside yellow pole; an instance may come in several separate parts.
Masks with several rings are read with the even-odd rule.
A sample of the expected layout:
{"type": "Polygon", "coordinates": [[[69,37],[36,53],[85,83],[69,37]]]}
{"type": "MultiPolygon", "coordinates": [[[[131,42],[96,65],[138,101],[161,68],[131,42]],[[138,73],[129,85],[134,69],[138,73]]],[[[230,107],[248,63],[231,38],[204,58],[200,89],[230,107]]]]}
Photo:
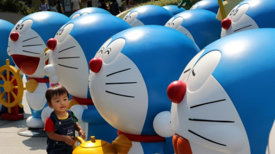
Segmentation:
{"type": "Polygon", "coordinates": [[[247,14],[249,3],[238,4],[222,21],[221,38],[233,33],[259,28],[257,23],[247,14]]]}

